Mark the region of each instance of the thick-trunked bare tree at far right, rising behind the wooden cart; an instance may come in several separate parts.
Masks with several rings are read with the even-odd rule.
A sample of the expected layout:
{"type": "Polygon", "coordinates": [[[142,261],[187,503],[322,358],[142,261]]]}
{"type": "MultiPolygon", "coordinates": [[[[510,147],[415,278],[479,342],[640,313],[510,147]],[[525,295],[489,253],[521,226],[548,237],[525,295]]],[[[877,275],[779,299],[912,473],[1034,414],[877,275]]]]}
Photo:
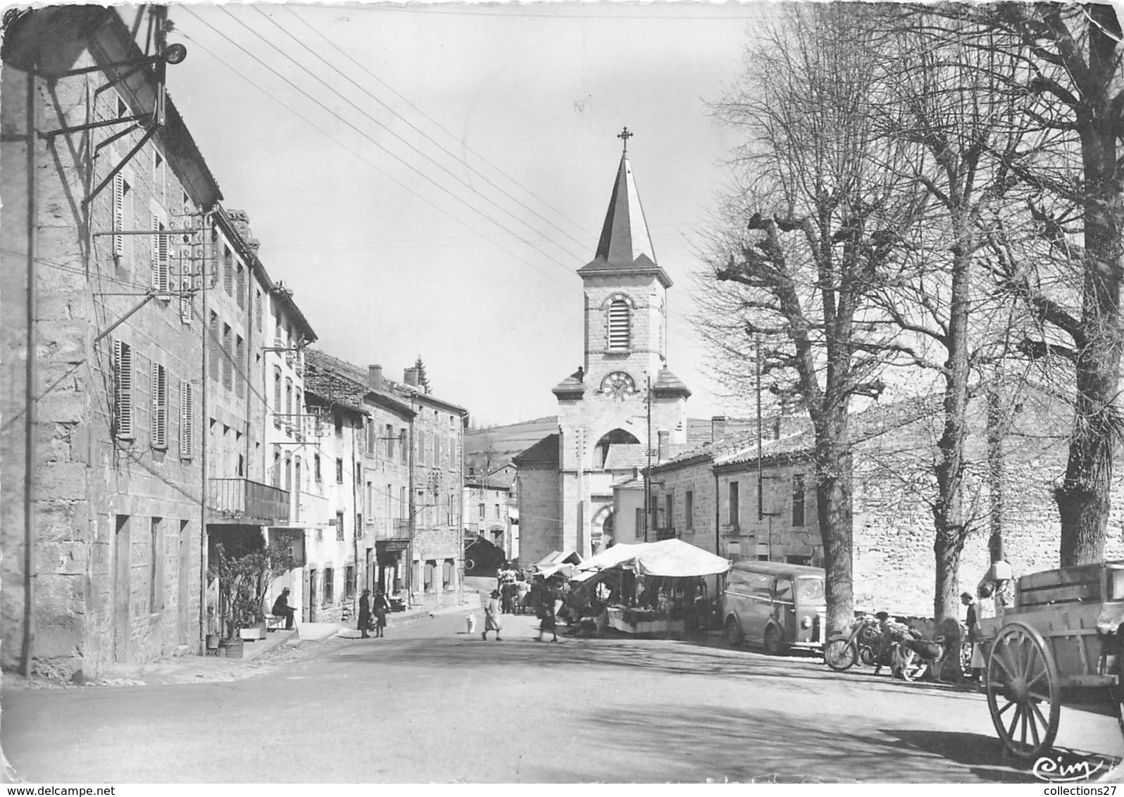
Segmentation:
{"type": "Polygon", "coordinates": [[[957,40],[1001,52],[1022,69],[1008,81],[1018,99],[1013,124],[1048,136],[1050,146],[992,150],[1009,169],[1024,212],[991,235],[994,269],[1025,302],[1041,334],[1027,354],[1072,369],[1073,431],[1054,493],[1062,565],[1104,558],[1114,446],[1122,423],[1118,391],[1124,323],[1124,73],[1121,26],[1103,3],[998,3],[937,7],[958,21],[957,40]],[[1028,233],[1021,235],[1021,233],[1028,233]],[[1045,247],[1045,248],[1043,248],[1045,247]]]}

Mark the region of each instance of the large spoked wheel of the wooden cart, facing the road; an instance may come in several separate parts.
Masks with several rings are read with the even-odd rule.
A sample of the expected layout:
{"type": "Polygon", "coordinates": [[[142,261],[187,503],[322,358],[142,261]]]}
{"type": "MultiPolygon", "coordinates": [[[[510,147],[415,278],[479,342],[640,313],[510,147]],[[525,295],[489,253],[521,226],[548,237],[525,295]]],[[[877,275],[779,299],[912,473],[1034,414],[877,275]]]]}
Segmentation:
{"type": "Polygon", "coordinates": [[[1024,623],[1005,625],[987,662],[987,705],[999,741],[1024,761],[1050,750],[1058,735],[1061,688],[1042,635],[1024,623]]]}

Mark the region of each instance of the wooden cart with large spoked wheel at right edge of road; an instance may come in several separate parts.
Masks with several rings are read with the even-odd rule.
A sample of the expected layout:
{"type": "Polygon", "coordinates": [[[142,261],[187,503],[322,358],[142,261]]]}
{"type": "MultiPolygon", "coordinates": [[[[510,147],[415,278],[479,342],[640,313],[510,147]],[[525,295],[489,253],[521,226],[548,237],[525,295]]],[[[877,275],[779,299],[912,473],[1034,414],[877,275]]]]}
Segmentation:
{"type": "Polygon", "coordinates": [[[1063,703],[1121,717],[1122,621],[1124,560],[1024,576],[1014,609],[980,621],[988,708],[1008,752],[1049,752],[1063,703]]]}

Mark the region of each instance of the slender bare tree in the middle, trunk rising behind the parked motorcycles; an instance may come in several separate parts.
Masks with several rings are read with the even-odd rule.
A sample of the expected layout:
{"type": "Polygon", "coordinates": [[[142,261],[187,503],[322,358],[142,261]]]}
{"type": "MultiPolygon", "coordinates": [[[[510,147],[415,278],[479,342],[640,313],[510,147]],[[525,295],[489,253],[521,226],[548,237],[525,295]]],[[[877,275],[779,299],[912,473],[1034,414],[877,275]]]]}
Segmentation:
{"type": "Polygon", "coordinates": [[[860,38],[882,56],[873,121],[904,148],[892,165],[899,183],[907,191],[922,185],[927,200],[900,242],[897,271],[881,275],[871,298],[895,330],[881,344],[888,362],[942,383],[931,502],[940,621],[958,616],[960,555],[977,517],[966,506],[970,393],[1012,355],[1009,302],[981,282],[991,217],[1010,179],[1007,160],[994,153],[1009,156],[1027,138],[1012,124],[1017,108],[1006,91],[1022,67],[1000,48],[966,49],[958,21],[924,10],[888,7],[870,21],[860,38]]]}

